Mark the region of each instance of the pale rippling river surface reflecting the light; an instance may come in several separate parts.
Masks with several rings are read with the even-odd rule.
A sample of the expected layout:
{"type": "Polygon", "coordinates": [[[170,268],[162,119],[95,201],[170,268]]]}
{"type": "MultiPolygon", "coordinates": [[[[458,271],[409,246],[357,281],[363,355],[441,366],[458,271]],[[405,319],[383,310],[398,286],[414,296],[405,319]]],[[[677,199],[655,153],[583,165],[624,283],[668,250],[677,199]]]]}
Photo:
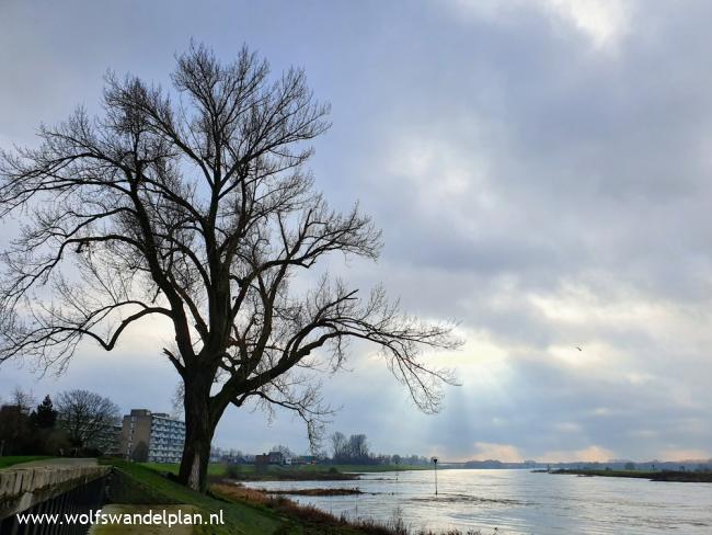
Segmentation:
{"type": "Polygon", "coordinates": [[[264,489],[358,488],[364,494],[291,497],[335,515],[413,530],[481,530],[491,535],[712,534],[712,483],[535,474],[438,470],[364,474],[355,481],[257,481],[264,489]]]}

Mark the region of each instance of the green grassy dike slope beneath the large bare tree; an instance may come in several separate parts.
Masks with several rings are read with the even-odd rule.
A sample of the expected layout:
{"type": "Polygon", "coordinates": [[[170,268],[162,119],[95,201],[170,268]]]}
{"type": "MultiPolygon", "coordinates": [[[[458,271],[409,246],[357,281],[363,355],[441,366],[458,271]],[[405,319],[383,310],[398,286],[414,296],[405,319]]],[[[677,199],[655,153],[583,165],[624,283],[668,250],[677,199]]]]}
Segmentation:
{"type": "MultiPolygon", "coordinates": [[[[2,457],[2,466],[13,466],[48,457],[2,457]]],[[[220,515],[222,524],[213,525],[140,525],[95,524],[90,535],[483,535],[480,531],[411,532],[406,521],[394,517],[387,525],[371,521],[346,521],[312,506],[299,505],[280,494],[250,489],[222,477],[223,469],[211,467],[209,492],[202,494],[166,477],[174,467],[142,466],[119,459],[99,459],[112,466],[108,503],[102,513],[111,515],[199,514],[206,522],[210,515],[220,515]],[[163,469],[159,471],[159,469],[163,469]]],[[[342,466],[345,468],[346,466],[342,466]]],[[[324,471],[333,468],[306,471],[324,471]]],[[[403,469],[401,467],[401,469],[403,469]]],[[[374,470],[376,471],[376,470],[374,470]]],[[[381,469],[378,471],[387,471],[381,469]]],[[[340,489],[329,489],[341,493],[340,489]]],[[[346,489],[342,489],[345,491],[346,489]]],[[[347,493],[353,493],[348,489],[347,493]]],[[[356,491],[357,492],[357,491],[356,491]]],[[[496,533],[496,530],[492,532],[496,533]]]]}

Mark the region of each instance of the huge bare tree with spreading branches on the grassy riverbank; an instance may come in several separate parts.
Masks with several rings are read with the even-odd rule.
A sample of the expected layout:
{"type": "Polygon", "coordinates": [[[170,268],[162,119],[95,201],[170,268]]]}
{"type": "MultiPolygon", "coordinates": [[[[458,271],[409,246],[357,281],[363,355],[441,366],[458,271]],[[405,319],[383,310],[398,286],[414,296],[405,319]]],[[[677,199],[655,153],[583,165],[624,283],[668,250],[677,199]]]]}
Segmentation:
{"type": "Polygon", "coordinates": [[[172,83],[108,75],[103,116],[79,109],[43,126],[41,147],[2,153],[1,214],[27,218],[4,254],[0,358],[61,369],[82,340],[108,351],[135,323],[163,318],[184,392],[180,479],[200,490],[230,403],[291,409],[314,436],[329,408],[308,372],[337,371],[349,339],[380,345],[417,406],[436,410],[451,377],[417,350],[455,346],[449,326],[326,275],[290,288],[331,252],[380,249],[368,217],[331,209],[313,189],[308,143],[329,127],[329,107],[303,72],[271,78],[246,48],[223,65],[192,45],[172,83]]]}

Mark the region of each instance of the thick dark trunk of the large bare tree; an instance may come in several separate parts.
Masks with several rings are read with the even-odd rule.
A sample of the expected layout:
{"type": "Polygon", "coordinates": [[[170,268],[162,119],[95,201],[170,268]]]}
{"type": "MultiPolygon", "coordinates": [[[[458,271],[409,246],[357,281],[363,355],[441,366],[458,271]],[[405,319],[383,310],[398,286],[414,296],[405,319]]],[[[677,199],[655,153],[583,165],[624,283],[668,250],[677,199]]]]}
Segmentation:
{"type": "Polygon", "coordinates": [[[205,492],[215,423],[210,413],[210,389],[198,385],[185,385],[185,444],[179,481],[193,490],[205,492]]]}

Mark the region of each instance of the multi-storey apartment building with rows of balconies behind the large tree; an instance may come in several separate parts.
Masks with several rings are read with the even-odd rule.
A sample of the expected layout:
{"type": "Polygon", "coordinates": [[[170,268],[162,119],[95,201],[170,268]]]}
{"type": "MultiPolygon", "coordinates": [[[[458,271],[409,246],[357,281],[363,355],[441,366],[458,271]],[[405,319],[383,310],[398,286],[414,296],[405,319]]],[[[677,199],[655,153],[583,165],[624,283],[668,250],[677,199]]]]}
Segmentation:
{"type": "Polygon", "coordinates": [[[163,412],[133,409],[122,425],[122,454],[149,463],[180,463],[185,422],[163,412]]]}

